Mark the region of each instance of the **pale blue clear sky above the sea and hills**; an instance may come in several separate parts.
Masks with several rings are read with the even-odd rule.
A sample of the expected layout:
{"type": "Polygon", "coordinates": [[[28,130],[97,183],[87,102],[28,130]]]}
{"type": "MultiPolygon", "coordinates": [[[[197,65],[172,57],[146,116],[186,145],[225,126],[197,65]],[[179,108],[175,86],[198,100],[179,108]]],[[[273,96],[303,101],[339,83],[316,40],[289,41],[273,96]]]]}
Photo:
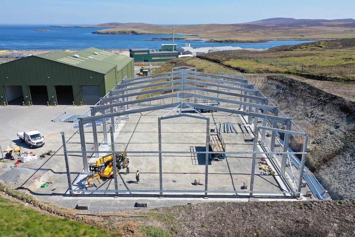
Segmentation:
{"type": "Polygon", "coordinates": [[[354,0],[2,0],[0,24],[244,23],[273,17],[355,17],[354,0]]]}

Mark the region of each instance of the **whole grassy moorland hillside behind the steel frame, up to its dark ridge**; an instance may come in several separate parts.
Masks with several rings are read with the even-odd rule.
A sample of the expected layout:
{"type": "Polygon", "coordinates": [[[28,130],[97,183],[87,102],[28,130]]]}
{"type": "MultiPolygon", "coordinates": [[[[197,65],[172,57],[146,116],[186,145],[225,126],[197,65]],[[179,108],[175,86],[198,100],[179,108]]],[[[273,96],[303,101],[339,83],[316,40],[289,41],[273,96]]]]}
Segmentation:
{"type": "MultiPolygon", "coordinates": [[[[354,40],[353,40],[354,41],[354,40]]],[[[337,84],[346,85],[349,82],[353,85],[355,80],[355,41],[354,45],[348,44],[346,47],[342,41],[328,41],[306,43],[292,46],[280,46],[263,52],[250,52],[245,50],[236,50],[229,52],[216,52],[203,54],[197,57],[184,57],[166,62],[158,69],[153,69],[153,74],[171,71],[171,68],[178,66],[191,66],[197,68],[198,71],[218,74],[221,72],[228,73],[278,73],[297,75],[317,80],[335,81],[337,84]],[[342,45],[339,45],[342,44],[342,45]],[[324,50],[314,50],[315,48],[325,48],[324,50]],[[337,49],[333,49],[337,48],[337,49]],[[266,60],[265,60],[266,59],[266,60]],[[265,63],[266,62],[266,63],[265,63]],[[297,63],[298,62],[298,63],[297,63]],[[272,64],[270,64],[272,63],[272,64]],[[297,63],[297,70],[294,65],[297,63]],[[304,68],[310,72],[301,72],[300,65],[304,64],[304,68]],[[274,65],[277,64],[277,65],[274,65]],[[290,65],[290,66],[288,66],[290,65]],[[334,73],[343,73],[340,75],[331,75],[332,66],[334,65],[334,73]],[[316,68],[317,67],[317,73],[316,68]],[[352,76],[346,76],[353,67],[352,76]]],[[[349,42],[348,42],[349,43],[349,42]]],[[[153,86],[151,89],[168,87],[169,85],[153,86]]],[[[147,91],[149,88],[143,89],[147,91]]],[[[168,93],[166,91],[165,93],[168,93]]],[[[152,96],[161,94],[162,92],[152,93],[152,96]]],[[[138,96],[137,99],[149,97],[148,95],[138,96]]]]}

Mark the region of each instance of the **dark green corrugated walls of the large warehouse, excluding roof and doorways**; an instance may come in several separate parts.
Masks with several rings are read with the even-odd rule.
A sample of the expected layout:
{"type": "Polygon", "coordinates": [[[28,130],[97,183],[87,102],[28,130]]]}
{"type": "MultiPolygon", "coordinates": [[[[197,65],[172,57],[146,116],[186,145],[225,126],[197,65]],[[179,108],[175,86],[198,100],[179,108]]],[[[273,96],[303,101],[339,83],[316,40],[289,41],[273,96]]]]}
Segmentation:
{"type": "Polygon", "coordinates": [[[56,96],[52,98],[55,95],[55,86],[71,85],[74,104],[80,105],[83,101],[82,85],[99,86],[100,97],[103,97],[125,76],[127,78],[134,77],[133,60],[121,70],[117,70],[115,67],[107,74],[102,74],[37,56],[17,59],[0,65],[0,104],[5,102],[7,105],[4,87],[7,85],[22,86],[25,105],[29,105],[29,103],[32,105],[29,86],[47,86],[48,102],[50,105],[54,105],[58,104],[56,96]]]}

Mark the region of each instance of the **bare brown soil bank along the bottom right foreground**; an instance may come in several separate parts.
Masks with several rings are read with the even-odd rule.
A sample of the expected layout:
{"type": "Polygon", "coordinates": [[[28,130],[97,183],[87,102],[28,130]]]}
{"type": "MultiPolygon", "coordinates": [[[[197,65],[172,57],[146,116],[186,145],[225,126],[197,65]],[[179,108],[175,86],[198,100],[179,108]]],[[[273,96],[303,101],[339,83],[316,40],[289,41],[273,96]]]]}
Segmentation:
{"type": "Polygon", "coordinates": [[[206,203],[164,211],[175,216],[172,236],[354,236],[354,205],[354,201],[206,203]]]}

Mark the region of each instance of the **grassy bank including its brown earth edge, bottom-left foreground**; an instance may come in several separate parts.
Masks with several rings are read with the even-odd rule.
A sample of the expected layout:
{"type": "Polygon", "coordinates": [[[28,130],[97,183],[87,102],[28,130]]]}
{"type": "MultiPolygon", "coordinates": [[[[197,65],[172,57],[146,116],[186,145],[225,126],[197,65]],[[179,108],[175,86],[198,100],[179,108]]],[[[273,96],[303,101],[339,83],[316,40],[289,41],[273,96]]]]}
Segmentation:
{"type": "MultiPolygon", "coordinates": [[[[0,192],[12,198],[10,200],[2,194],[0,195],[0,236],[120,237],[125,235],[125,232],[135,232],[137,234],[135,236],[170,237],[169,231],[152,226],[152,222],[170,221],[173,217],[172,215],[154,214],[154,212],[138,213],[138,215],[148,216],[144,217],[144,220],[140,219],[140,225],[134,221],[127,222],[124,217],[93,217],[92,219],[83,217],[81,219],[75,215],[76,211],[73,209],[44,202],[31,194],[15,190],[1,182],[0,192]],[[27,207],[27,205],[31,206],[31,208],[27,207]],[[43,213],[37,210],[42,210],[43,213]],[[86,223],[91,223],[92,225],[86,223]]],[[[125,214],[129,215],[129,213],[125,214]]],[[[133,215],[137,215],[137,213],[133,215]]]]}

